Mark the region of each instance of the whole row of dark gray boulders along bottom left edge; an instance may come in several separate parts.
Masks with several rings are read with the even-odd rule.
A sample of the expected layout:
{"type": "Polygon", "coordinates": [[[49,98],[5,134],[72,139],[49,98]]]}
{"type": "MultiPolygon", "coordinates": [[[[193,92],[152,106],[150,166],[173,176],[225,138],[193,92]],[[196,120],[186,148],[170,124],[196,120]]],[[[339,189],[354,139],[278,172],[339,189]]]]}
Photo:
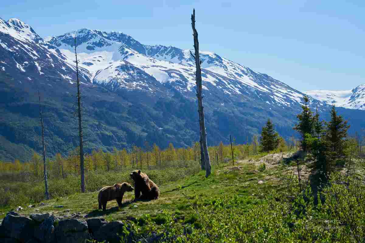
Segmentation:
{"type": "Polygon", "coordinates": [[[1,243],[87,243],[92,239],[119,243],[121,237],[132,242],[133,236],[122,221],[60,220],[51,213],[33,213],[27,217],[11,211],[0,224],[1,243]]]}

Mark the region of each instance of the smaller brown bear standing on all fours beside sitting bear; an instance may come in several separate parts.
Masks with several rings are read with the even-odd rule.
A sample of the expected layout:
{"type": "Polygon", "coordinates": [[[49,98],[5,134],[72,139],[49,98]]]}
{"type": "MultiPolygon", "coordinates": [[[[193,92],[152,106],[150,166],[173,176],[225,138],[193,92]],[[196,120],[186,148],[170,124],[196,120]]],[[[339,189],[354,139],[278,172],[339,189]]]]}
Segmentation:
{"type": "Polygon", "coordinates": [[[99,201],[99,209],[103,206],[103,211],[107,208],[107,202],[116,199],[119,207],[122,207],[124,192],[133,191],[133,187],[129,183],[116,183],[112,186],[106,186],[100,189],[97,199],[99,201]]]}

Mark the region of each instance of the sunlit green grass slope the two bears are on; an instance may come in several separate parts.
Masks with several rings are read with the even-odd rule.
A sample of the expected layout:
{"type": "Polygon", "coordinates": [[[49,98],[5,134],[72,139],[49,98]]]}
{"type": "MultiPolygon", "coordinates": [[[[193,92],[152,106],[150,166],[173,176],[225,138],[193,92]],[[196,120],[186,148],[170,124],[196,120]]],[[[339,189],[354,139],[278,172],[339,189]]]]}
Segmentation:
{"type": "MultiPolygon", "coordinates": [[[[56,215],[62,216],[69,214],[64,211],[70,209],[70,213],[81,212],[82,215],[88,215],[88,217],[105,217],[108,220],[119,220],[130,217],[138,218],[147,214],[154,217],[160,215],[161,211],[165,211],[172,214],[178,212],[180,218],[189,220],[189,217],[192,215],[192,199],[199,197],[206,202],[210,202],[225,194],[239,195],[245,197],[247,201],[251,201],[253,192],[258,188],[266,190],[272,188],[274,184],[276,184],[276,187],[280,187],[280,185],[277,185],[277,182],[271,183],[270,180],[261,185],[257,183],[258,180],[268,176],[268,170],[257,171],[255,170],[256,166],[247,161],[240,162],[237,165],[241,168],[239,171],[230,171],[229,168],[232,167],[230,165],[220,168],[213,167],[212,175],[208,178],[205,178],[205,171],[199,171],[199,168],[191,170],[192,173],[199,171],[198,173],[193,173],[193,175],[181,173],[178,169],[166,169],[162,172],[147,171],[147,175],[160,187],[160,198],[152,201],[132,202],[132,199],[134,199],[133,192],[126,192],[123,197],[123,207],[119,209],[116,201],[110,201],[107,204],[106,212],[98,210],[97,188],[93,188],[92,190],[95,190],[88,193],[70,193],[70,195],[55,196],[48,201],[43,201],[46,204],[45,206],[38,206],[39,203],[37,202],[37,207],[28,208],[29,204],[34,203],[32,201],[19,205],[22,205],[24,208],[22,211],[24,214],[29,214],[35,212],[35,209],[39,209],[39,212],[53,212],[56,215]],[[169,176],[169,172],[174,173],[169,176]],[[180,179],[178,179],[178,176],[180,176],[180,179]],[[174,179],[178,180],[173,181],[174,179]],[[64,205],[64,207],[55,208],[56,205],[64,205]]],[[[106,181],[114,179],[105,179],[105,175],[100,175],[95,179],[101,179],[102,177],[106,181]]],[[[109,177],[113,176],[109,175],[109,177]]],[[[120,177],[126,178],[123,174],[119,175],[120,177]]],[[[129,179],[126,178],[126,180],[128,181],[129,179]]],[[[73,181],[70,180],[68,183],[74,183],[73,181]]],[[[104,183],[101,184],[104,185],[104,183]]],[[[100,183],[99,187],[101,187],[100,183]]],[[[18,204],[14,204],[12,207],[0,208],[0,212],[5,213],[10,209],[14,209],[15,205],[18,204]]],[[[0,215],[0,218],[3,216],[5,215],[0,215]]]]}

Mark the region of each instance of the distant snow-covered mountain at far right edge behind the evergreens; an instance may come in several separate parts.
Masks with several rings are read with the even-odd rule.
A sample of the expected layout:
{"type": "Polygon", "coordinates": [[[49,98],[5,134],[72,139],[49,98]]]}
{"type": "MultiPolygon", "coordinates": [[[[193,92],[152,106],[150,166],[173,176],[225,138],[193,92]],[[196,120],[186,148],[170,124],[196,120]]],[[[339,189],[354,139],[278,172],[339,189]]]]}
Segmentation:
{"type": "Polygon", "coordinates": [[[365,110],[365,84],[352,90],[311,90],[304,92],[311,97],[335,106],[365,110]]]}

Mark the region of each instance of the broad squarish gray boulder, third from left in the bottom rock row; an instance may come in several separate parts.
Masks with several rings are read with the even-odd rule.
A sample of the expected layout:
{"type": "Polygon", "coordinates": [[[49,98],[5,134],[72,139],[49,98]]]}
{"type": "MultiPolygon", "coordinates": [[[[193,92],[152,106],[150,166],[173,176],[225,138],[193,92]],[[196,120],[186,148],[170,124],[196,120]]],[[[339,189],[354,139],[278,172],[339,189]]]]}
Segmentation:
{"type": "Polygon", "coordinates": [[[91,239],[88,225],[84,220],[64,219],[56,227],[57,242],[86,243],[91,239]]]}

